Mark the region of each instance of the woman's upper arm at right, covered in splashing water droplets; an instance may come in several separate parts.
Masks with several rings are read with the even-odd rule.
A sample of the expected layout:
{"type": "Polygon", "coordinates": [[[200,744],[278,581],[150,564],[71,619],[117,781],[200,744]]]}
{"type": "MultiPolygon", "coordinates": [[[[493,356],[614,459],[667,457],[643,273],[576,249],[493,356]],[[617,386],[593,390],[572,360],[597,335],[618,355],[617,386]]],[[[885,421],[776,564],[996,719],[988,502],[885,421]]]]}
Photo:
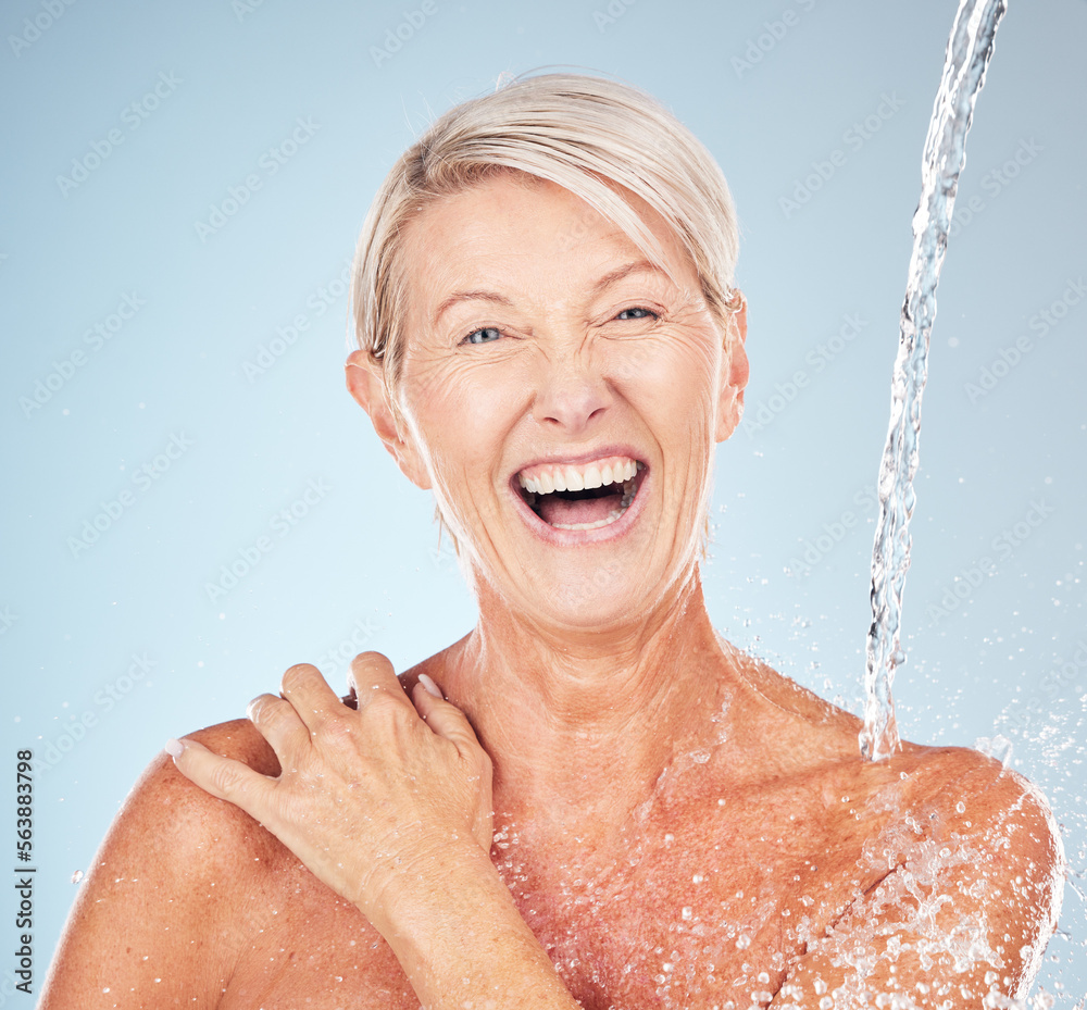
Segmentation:
{"type": "Polygon", "coordinates": [[[891,872],[809,946],[772,1007],[886,994],[975,1010],[990,992],[1026,995],[1057,924],[1063,853],[1040,794],[978,758],[927,809],[930,833],[878,852],[891,872]]]}

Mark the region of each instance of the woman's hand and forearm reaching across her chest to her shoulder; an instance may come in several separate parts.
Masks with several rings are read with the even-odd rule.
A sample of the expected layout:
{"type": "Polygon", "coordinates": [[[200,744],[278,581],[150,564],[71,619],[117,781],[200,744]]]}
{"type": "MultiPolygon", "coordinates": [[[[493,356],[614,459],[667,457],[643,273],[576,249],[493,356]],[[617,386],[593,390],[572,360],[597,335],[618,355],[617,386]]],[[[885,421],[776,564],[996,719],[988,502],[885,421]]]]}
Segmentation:
{"type": "Polygon", "coordinates": [[[363,652],[355,711],[316,669],[291,666],[282,699],[249,707],[278,778],[195,740],[168,750],[362,911],[423,1006],[578,1010],[490,861],[490,759],[464,714],[420,682],[409,700],[392,664],[363,652]]]}

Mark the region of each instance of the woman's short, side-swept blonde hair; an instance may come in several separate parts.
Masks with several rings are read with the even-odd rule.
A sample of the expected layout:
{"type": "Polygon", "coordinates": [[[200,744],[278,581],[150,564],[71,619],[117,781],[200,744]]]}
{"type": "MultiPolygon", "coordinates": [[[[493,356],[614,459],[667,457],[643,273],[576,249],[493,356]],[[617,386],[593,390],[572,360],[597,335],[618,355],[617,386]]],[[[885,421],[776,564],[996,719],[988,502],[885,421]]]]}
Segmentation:
{"type": "Polygon", "coordinates": [[[509,171],[570,190],[663,266],[659,242],[614,187],[629,190],[679,237],[722,325],[738,307],[730,290],[739,248],[736,212],[728,184],[701,141],[629,85],[580,74],[516,78],[435,121],[392,166],[363,224],[351,287],[355,338],[382,361],[397,415],[408,225],[434,201],[509,171]]]}

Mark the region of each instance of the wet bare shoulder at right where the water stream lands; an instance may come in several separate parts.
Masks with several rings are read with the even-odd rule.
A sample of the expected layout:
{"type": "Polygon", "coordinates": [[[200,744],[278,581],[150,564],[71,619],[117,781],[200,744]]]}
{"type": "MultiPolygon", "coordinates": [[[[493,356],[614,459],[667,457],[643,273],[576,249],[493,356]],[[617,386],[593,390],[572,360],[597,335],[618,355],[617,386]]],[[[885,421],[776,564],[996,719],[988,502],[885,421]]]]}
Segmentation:
{"type": "Polygon", "coordinates": [[[790,967],[789,990],[863,990],[908,1006],[922,993],[923,1006],[949,1008],[1025,996],[1063,888],[1045,798],[967,748],[907,744],[857,766],[869,800],[857,814],[882,811],[855,862],[863,884],[790,967]],[[863,964],[851,953],[861,949],[863,964]]]}

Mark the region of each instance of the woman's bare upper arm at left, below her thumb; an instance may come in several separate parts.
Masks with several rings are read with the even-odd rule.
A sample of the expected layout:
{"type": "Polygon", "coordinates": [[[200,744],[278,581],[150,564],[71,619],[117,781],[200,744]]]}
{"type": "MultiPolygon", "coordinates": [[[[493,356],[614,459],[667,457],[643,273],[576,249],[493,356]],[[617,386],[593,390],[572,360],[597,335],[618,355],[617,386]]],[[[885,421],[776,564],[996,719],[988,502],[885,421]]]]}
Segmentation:
{"type": "Polygon", "coordinates": [[[80,884],[41,1010],[215,1007],[238,950],[240,878],[262,834],[155,759],[80,884]]]}

